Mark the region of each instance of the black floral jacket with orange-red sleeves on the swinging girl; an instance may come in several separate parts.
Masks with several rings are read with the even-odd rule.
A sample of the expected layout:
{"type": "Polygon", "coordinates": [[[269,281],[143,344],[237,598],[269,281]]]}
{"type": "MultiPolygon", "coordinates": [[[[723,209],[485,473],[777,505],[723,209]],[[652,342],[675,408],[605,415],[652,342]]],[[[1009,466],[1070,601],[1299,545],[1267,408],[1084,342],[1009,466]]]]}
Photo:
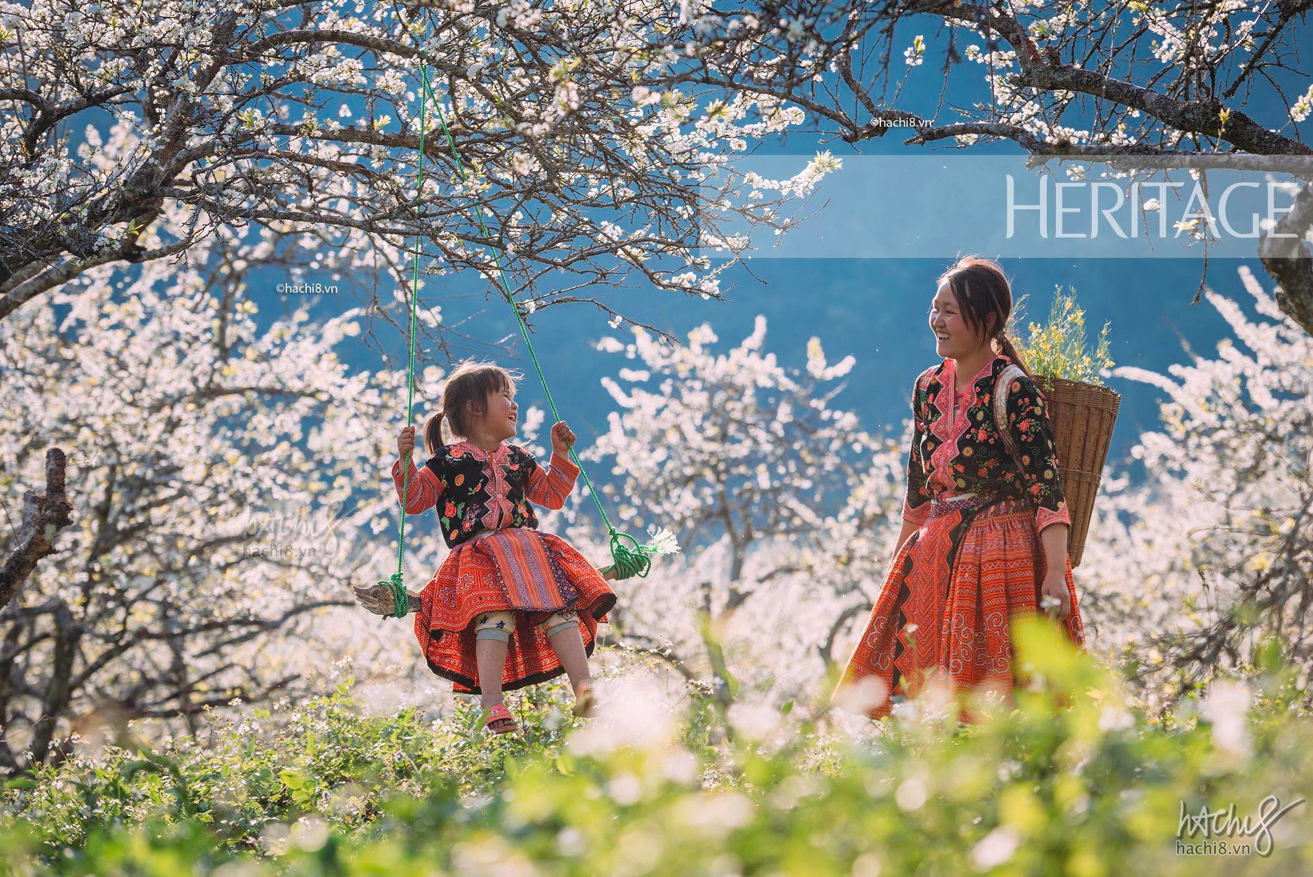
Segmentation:
{"type": "MultiPolygon", "coordinates": [[[[419,515],[437,507],[442,538],[456,547],[482,529],[537,529],[537,503],[561,508],[574,490],[579,467],[555,452],[546,469],[524,448],[502,442],[492,453],[467,441],[442,445],[423,469],[410,463],[406,512],[419,515]]],[[[393,463],[397,496],[402,496],[402,462],[393,463]]]]}

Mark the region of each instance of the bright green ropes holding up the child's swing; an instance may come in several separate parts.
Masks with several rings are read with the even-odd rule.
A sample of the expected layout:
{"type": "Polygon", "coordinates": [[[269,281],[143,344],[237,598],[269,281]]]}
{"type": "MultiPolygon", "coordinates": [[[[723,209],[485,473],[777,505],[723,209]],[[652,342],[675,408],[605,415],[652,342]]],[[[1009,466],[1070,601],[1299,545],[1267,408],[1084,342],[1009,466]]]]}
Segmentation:
{"type": "MultiPolygon", "coordinates": [[[[446,126],[446,117],[442,113],[441,104],[437,102],[437,96],[433,95],[433,89],[428,80],[428,53],[423,47],[419,49],[420,58],[423,58],[423,64],[420,66],[420,77],[423,81],[423,95],[420,96],[419,106],[419,164],[418,164],[418,185],[415,189],[415,203],[416,209],[424,201],[424,133],[428,127],[425,118],[425,108],[428,101],[433,102],[433,108],[437,110],[439,122],[442,125],[442,133],[446,135],[448,147],[452,151],[452,158],[456,160],[456,167],[461,172],[461,181],[469,180],[469,175],[465,172],[465,164],[461,161],[460,154],[456,151],[456,138],[452,137],[450,129],[446,126]]],[[[487,225],[483,222],[483,209],[475,203],[474,210],[479,223],[479,231],[484,238],[491,238],[487,225]]],[[[406,374],[406,425],[410,427],[415,420],[415,344],[418,337],[418,307],[419,307],[419,263],[420,263],[420,249],[423,243],[423,235],[415,232],[415,259],[414,269],[411,276],[411,301],[410,301],[410,336],[408,336],[408,364],[406,374]]],[[[516,323],[520,326],[520,335],[524,337],[524,347],[529,352],[529,358],[533,361],[533,369],[538,374],[538,382],[542,385],[542,394],[548,399],[548,407],[551,408],[551,416],[559,421],[561,412],[557,410],[555,399],[551,396],[551,390],[548,387],[548,378],[542,373],[542,365],[538,362],[538,354],[533,349],[533,341],[529,339],[529,327],[524,320],[524,314],[520,306],[515,301],[515,295],[511,293],[511,285],[506,280],[506,272],[502,268],[502,257],[498,252],[491,248],[484,248],[492,256],[492,261],[496,265],[498,280],[502,286],[502,297],[515,311],[516,323]]],[[[414,453],[414,452],[412,452],[414,453]]],[[[678,551],[679,546],[675,542],[674,534],[668,530],[658,530],[653,534],[653,540],[646,545],[639,545],[638,541],[625,533],[620,533],[611,524],[611,519],[607,516],[607,509],[603,508],[601,500],[597,496],[597,491],[593,490],[592,482],[588,479],[588,473],[583,467],[583,462],[575,453],[574,448],[570,449],[570,457],[574,465],[578,466],[579,474],[583,475],[583,483],[588,488],[588,495],[597,507],[599,515],[601,515],[601,523],[607,528],[607,533],[611,536],[611,557],[612,565],[605,567],[603,574],[614,571],[614,578],[618,580],[630,579],[633,576],[645,578],[649,571],[651,571],[651,558],[660,554],[670,554],[678,551]],[[626,545],[628,541],[628,545],[626,545]]],[[[386,587],[393,595],[393,612],[389,613],[394,618],[404,618],[410,610],[410,595],[406,592],[406,586],[403,583],[403,563],[406,555],[406,496],[410,491],[410,466],[406,466],[406,471],[402,477],[402,515],[400,524],[397,532],[397,572],[394,572],[387,579],[379,579],[378,584],[386,587]]]]}

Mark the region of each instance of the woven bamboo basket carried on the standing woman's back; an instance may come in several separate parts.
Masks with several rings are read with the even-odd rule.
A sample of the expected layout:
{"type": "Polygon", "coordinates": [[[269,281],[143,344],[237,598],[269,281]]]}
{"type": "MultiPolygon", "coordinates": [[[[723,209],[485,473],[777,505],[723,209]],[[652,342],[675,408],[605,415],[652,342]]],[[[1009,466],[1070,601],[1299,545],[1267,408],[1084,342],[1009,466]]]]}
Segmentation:
{"type": "Polygon", "coordinates": [[[1094,383],[1043,374],[1035,375],[1035,382],[1044,394],[1053,423],[1053,440],[1058,446],[1058,473],[1071,516],[1067,554],[1071,555],[1071,566],[1081,566],[1121,394],[1094,383]]]}

